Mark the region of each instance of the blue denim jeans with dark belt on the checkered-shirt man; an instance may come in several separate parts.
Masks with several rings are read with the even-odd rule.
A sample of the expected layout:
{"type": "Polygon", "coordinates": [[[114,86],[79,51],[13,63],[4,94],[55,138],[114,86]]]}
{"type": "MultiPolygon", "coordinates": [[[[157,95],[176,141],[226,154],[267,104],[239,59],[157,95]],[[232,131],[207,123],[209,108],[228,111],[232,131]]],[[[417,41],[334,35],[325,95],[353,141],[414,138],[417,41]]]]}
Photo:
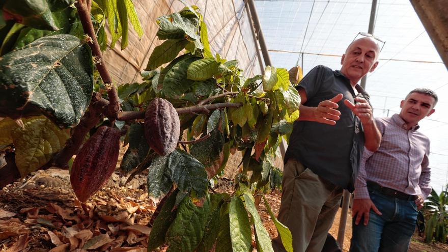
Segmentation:
{"type": "Polygon", "coordinates": [[[370,188],[369,194],[373,204],[382,215],[376,214],[371,209],[367,226],[363,225],[363,218],[358,225],[355,225],[355,218],[353,218],[350,251],[407,251],[411,236],[415,231],[417,206],[413,201],[389,197],[370,188]]]}

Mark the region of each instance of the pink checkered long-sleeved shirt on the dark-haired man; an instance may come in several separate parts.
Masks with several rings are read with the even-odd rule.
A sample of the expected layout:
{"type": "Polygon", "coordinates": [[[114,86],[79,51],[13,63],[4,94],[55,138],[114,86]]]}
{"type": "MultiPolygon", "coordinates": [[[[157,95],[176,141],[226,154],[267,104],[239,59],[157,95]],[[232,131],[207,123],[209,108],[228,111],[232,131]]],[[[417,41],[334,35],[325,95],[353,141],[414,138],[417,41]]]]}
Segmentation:
{"type": "Polygon", "coordinates": [[[431,192],[429,138],[417,131],[418,125],[407,130],[398,114],[375,121],[382,134],[381,146],[376,152],[364,148],[354,198],[370,199],[366,185],[369,180],[426,199],[431,192]]]}

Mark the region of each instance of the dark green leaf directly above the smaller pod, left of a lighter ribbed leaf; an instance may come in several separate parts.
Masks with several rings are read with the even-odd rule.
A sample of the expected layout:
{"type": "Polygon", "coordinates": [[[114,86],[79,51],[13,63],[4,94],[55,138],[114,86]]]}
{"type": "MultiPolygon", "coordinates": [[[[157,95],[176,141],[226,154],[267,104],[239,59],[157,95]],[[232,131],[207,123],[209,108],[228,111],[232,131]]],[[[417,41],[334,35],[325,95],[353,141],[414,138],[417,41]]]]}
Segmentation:
{"type": "MultiPolygon", "coordinates": [[[[187,79],[187,69],[191,62],[197,58],[185,58],[174,64],[163,76],[162,93],[169,98],[178,98],[185,93],[192,85],[193,81],[187,79]]],[[[160,83],[160,78],[159,78],[160,83]]]]}

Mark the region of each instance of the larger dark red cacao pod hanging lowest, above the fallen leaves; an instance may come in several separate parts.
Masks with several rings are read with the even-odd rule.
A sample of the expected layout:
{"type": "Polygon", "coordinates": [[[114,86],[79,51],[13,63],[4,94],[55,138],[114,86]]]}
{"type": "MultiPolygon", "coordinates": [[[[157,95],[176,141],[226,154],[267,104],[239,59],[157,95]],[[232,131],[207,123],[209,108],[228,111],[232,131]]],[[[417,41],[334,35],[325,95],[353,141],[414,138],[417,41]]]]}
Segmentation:
{"type": "Polygon", "coordinates": [[[120,130],[100,126],[73,161],[70,182],[76,197],[87,201],[114,173],[120,149],[120,130]]]}

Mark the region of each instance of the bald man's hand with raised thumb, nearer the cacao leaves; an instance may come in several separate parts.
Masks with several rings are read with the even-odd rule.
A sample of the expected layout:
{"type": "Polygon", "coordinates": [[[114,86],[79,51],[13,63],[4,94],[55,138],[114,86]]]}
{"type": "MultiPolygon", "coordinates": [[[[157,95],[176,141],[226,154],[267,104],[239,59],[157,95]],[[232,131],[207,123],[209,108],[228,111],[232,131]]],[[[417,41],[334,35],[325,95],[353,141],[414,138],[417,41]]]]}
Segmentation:
{"type": "Polygon", "coordinates": [[[342,100],[342,97],[344,97],[342,94],[338,94],[329,100],[319,102],[319,105],[314,109],[316,122],[335,125],[339,116],[341,116],[341,112],[336,108],[339,107],[337,102],[342,100]]]}

